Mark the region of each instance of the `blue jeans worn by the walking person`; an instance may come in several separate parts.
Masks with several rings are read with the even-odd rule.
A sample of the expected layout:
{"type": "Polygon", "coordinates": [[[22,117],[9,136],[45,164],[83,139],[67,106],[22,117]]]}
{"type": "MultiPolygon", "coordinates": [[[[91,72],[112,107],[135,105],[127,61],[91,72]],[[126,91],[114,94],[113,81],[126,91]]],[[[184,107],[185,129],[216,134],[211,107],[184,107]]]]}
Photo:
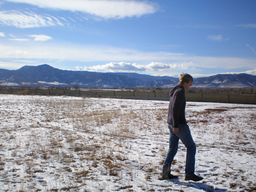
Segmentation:
{"type": "Polygon", "coordinates": [[[169,138],[169,150],[165,157],[162,169],[162,178],[166,179],[170,176],[170,167],[172,166],[172,162],[174,160],[174,156],[178,152],[179,140],[187,148],[186,154],[186,168],[185,168],[185,176],[191,177],[194,176],[195,173],[195,156],[197,147],[191,136],[189,127],[187,124],[179,124],[179,132],[175,134],[173,132],[173,124],[168,124],[168,128],[170,130],[170,138],[169,138]]]}

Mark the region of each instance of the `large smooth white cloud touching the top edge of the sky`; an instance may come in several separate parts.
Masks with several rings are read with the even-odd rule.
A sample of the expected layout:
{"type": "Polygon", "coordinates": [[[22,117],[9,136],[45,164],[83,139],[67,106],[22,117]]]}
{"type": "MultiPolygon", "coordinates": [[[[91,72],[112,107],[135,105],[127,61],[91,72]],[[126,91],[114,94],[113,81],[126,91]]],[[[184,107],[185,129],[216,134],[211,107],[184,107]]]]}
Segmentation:
{"type": "Polygon", "coordinates": [[[157,5],[147,1],[117,0],[6,0],[40,8],[83,12],[101,18],[139,17],[156,12],[157,5]]]}

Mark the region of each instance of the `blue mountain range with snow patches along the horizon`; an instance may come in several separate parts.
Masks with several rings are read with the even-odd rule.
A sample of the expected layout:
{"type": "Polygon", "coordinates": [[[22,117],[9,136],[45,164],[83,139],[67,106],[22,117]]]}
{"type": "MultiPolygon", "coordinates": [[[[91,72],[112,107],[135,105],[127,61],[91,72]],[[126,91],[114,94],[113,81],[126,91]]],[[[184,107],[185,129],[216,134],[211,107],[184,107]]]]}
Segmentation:
{"type": "MultiPolygon", "coordinates": [[[[0,86],[73,87],[78,85],[80,88],[170,88],[176,86],[178,82],[179,78],[169,76],[69,71],[56,69],[47,64],[24,66],[17,70],[0,69],[0,86]]],[[[256,87],[256,76],[242,73],[199,77],[194,78],[193,87],[256,87]]]]}

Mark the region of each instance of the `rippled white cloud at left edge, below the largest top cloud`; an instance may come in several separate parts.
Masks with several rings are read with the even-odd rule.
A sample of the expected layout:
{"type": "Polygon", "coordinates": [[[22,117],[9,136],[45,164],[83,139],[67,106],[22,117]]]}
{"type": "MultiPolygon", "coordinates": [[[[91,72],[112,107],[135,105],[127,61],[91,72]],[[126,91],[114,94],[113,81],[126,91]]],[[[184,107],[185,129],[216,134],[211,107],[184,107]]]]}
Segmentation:
{"type": "Polygon", "coordinates": [[[37,15],[35,13],[20,13],[18,11],[0,11],[0,24],[16,28],[34,28],[63,25],[52,16],[37,15]]]}

